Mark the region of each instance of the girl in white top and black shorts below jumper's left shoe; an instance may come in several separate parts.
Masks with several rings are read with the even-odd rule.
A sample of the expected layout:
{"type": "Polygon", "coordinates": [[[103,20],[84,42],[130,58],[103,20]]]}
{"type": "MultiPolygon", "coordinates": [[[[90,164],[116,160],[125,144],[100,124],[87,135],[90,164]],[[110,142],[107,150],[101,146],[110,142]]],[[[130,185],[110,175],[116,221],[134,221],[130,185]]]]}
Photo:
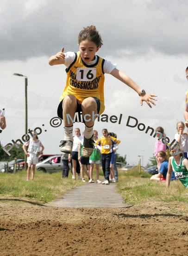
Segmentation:
{"type": "Polygon", "coordinates": [[[73,179],[76,178],[76,162],[78,160],[78,149],[79,149],[79,143],[83,137],[81,136],[80,129],[75,128],[75,137],[73,138],[73,147],[72,147],[72,173],[73,173],[73,179]]]}

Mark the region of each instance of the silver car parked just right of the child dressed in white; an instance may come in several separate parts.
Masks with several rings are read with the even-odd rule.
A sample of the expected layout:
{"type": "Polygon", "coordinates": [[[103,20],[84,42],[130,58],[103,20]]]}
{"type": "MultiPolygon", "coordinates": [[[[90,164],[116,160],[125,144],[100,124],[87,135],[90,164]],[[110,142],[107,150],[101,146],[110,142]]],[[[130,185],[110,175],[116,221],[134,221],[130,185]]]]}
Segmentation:
{"type": "MultiPolygon", "coordinates": [[[[36,164],[36,169],[43,172],[54,173],[62,171],[63,162],[62,155],[52,155],[42,162],[36,164]],[[56,162],[56,163],[55,163],[56,162]]],[[[69,170],[71,170],[71,164],[69,163],[69,170]]]]}

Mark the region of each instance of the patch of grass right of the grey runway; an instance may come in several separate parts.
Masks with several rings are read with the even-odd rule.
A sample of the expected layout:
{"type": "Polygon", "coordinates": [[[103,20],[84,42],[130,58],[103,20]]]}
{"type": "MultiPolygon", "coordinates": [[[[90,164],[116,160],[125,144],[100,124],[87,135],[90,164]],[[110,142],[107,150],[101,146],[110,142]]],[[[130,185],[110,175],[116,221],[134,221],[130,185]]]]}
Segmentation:
{"type": "Polygon", "coordinates": [[[118,192],[124,202],[138,204],[147,201],[188,202],[188,189],[180,181],[173,181],[169,188],[166,182],[150,182],[150,174],[133,169],[127,173],[119,172],[118,192]]]}

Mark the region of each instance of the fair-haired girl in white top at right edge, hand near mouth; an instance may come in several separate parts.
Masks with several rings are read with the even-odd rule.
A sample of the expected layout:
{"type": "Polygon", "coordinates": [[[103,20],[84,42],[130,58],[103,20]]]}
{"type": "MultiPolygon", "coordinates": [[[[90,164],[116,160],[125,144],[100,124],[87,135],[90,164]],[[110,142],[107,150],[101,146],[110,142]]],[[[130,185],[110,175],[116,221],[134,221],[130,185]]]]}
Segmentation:
{"type": "Polygon", "coordinates": [[[185,124],[182,121],[177,122],[175,140],[179,142],[179,146],[182,148],[184,157],[188,159],[188,134],[183,132],[184,128],[185,124]]]}

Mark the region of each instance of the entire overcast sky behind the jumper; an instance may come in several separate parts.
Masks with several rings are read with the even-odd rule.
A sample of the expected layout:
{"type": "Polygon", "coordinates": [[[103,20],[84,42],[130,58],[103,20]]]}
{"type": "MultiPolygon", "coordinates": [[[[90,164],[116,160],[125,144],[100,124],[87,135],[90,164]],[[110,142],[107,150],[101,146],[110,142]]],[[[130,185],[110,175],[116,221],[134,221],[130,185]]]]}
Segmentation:
{"type": "MultiPolygon", "coordinates": [[[[176,122],[184,121],[188,86],[187,13],[186,0],[1,0],[0,109],[5,108],[7,121],[1,144],[25,134],[25,81],[13,76],[20,73],[28,77],[28,128],[42,128],[44,154],[60,152],[63,125],[52,128],[49,121],[56,116],[66,72],[64,65],[50,67],[48,59],[62,47],[65,52],[77,51],[82,27],[95,25],[103,40],[98,55],[117,63],[119,70],[158,99],[152,109],[145,102],[141,107],[137,93],[106,74],[103,114],[122,114],[122,120],[96,122],[94,128],[99,135],[102,128],[115,132],[121,140],[118,153],[134,164],[143,155],[146,165],[156,139],[126,122],[133,116],[146,128],[162,126],[170,141],[174,139],[176,122]]],[[[76,127],[84,129],[80,123],[76,127]]]]}

